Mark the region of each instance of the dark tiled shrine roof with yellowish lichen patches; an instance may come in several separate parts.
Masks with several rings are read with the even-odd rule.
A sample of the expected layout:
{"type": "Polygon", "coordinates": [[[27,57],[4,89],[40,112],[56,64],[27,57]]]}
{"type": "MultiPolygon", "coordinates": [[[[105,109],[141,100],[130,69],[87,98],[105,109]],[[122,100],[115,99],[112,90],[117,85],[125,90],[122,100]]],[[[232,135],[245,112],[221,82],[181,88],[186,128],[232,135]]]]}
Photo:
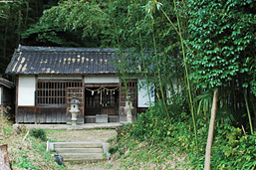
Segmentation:
{"type": "Polygon", "coordinates": [[[115,74],[116,49],[20,46],[6,74],[115,74]]]}

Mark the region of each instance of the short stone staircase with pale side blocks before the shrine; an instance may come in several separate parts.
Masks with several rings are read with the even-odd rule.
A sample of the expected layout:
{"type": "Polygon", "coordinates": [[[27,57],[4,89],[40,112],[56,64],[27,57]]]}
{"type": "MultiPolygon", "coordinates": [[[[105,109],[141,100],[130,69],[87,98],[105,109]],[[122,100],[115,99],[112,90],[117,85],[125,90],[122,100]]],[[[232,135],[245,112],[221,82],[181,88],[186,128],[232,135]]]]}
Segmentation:
{"type": "Polygon", "coordinates": [[[108,145],[104,142],[47,142],[47,150],[55,150],[64,161],[98,161],[106,159],[104,153],[108,145]]]}

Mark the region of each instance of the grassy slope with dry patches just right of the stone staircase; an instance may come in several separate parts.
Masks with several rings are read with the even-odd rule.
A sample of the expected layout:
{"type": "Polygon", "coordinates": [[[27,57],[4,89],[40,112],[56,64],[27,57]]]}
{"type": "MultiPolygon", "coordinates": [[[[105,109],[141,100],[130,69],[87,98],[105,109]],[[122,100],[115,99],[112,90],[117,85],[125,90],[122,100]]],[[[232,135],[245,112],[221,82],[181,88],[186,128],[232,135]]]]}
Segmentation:
{"type": "Polygon", "coordinates": [[[175,146],[167,145],[166,142],[137,140],[130,135],[133,130],[132,124],[124,126],[110,148],[115,151],[112,155],[121,160],[121,169],[184,169],[183,162],[177,159],[180,155],[174,153],[177,149],[175,146]]]}

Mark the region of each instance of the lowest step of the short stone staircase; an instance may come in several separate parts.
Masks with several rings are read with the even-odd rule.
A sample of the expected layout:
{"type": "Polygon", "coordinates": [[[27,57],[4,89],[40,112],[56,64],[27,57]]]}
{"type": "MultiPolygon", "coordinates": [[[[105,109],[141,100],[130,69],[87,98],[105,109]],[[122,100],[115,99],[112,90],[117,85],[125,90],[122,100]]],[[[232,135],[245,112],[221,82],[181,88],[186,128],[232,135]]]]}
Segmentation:
{"type": "Polygon", "coordinates": [[[103,153],[62,153],[64,161],[91,161],[104,159],[103,153]]]}

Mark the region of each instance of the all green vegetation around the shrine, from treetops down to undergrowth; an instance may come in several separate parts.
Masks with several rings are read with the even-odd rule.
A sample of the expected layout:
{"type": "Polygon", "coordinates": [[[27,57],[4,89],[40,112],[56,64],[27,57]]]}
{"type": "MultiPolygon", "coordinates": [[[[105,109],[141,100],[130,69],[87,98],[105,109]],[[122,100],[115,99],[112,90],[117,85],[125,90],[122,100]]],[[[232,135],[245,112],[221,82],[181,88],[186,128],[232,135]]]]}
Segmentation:
{"type": "MultiPolygon", "coordinates": [[[[20,1],[16,8],[19,16],[30,10],[21,2],[28,4],[20,1]]],[[[5,5],[1,12],[3,7],[7,12],[15,9],[5,5]]],[[[25,24],[28,20],[24,15],[12,29],[24,27],[17,32],[22,39],[17,40],[25,45],[112,47],[136,54],[122,59],[127,61],[119,64],[121,76],[126,80],[134,73],[145,78],[148,87],[155,86],[157,101],[137,122],[125,127],[113,152],[123,155],[124,143],[130,144],[126,140],[160,143],[159,147],[175,146],[184,151],[189,158],[187,166],[201,169],[215,90],[219,95],[215,96],[212,167],[252,169],[255,8],[256,2],[247,0],[67,0],[41,9],[44,14],[40,21],[31,25],[25,24]]],[[[0,19],[8,21],[2,15],[0,19]]],[[[7,25],[1,28],[9,29],[7,25]]],[[[7,49],[6,43],[1,48],[7,49]]]]}

